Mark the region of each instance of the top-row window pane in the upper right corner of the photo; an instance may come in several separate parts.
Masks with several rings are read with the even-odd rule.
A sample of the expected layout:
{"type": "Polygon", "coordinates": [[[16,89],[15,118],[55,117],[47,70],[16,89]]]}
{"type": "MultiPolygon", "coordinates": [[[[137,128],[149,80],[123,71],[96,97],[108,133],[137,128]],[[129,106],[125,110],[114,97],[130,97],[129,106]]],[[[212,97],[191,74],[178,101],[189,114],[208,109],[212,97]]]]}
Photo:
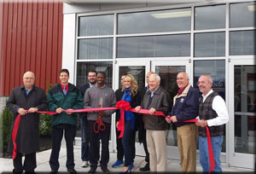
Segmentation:
{"type": "Polygon", "coordinates": [[[255,2],[230,4],[230,27],[255,26],[255,2]]]}

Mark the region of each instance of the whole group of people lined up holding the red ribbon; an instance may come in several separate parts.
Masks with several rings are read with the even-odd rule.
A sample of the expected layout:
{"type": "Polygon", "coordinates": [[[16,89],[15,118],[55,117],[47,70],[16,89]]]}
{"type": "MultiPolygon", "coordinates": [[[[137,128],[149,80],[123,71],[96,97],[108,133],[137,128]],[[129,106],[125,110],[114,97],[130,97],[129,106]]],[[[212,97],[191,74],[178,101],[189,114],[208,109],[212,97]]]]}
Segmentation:
{"type": "MultiPolygon", "coordinates": [[[[95,173],[98,162],[102,172],[109,173],[109,136],[112,114],[116,113],[117,160],[112,167],[124,165],[121,173],[127,173],[134,168],[136,154],[135,136],[139,131],[139,142],[143,142],[146,165],[140,171],[163,172],[167,168],[166,130],[169,124],[177,125],[177,146],[180,154],[180,164],[183,172],[195,172],[196,142],[199,136],[200,164],[204,172],[210,170],[207,147],[207,131],[209,127],[212,140],[212,150],[215,160],[213,172],[221,172],[220,153],[224,137],[224,124],[229,120],[225,102],[221,96],[212,90],[212,77],[201,75],[198,80],[198,90],[189,84],[189,75],[177,74],[179,90],[173,97],[173,106],[169,93],[160,86],[160,76],[154,72],[147,73],[147,86],[138,89],[137,80],[131,74],[122,74],[121,88],[116,90],[106,85],[106,73],[90,71],[88,84],[79,88],[68,82],[69,72],[61,69],[60,84],[55,84],[46,98],[44,90],[34,85],[35,75],[26,72],[23,75],[23,85],[12,90],[7,102],[8,109],[15,118],[21,114],[19,131],[16,138],[17,155],[14,162],[14,173],[26,171],[33,173],[37,167],[36,151],[39,138],[39,113],[48,110],[52,115],[52,149],[49,158],[50,173],[57,173],[60,167],[59,153],[61,139],[64,134],[67,147],[67,171],[76,173],[74,168],[73,142],[77,130],[77,116],[80,117],[81,159],[82,167],[90,166],[89,173],[95,173]],[[131,108],[121,114],[120,109],[96,110],[99,107],[116,107],[118,102],[129,102],[131,108]],[[74,109],[90,109],[87,113],[74,113],[74,109]],[[147,109],[148,113],[139,113],[147,109]],[[156,115],[162,112],[166,117],[156,115]],[[195,122],[186,120],[197,119],[195,122]],[[102,152],[100,153],[100,142],[102,152]],[[22,155],[25,154],[24,164],[22,155]],[[101,157],[100,157],[101,154],[101,157]]],[[[9,152],[13,152],[12,134],[9,141],[9,152]]]]}

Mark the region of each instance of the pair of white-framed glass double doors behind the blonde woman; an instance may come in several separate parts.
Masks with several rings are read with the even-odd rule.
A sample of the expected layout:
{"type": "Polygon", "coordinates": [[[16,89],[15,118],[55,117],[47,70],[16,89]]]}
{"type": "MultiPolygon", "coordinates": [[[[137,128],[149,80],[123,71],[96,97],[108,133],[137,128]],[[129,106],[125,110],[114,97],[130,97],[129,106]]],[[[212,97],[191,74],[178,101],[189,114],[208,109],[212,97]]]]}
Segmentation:
{"type": "MultiPolygon", "coordinates": [[[[161,60],[161,61],[117,61],[115,64],[115,90],[120,87],[120,78],[123,73],[131,73],[138,82],[139,89],[142,89],[146,84],[146,74],[149,71],[153,71],[160,75],[161,83],[160,85],[166,89],[171,98],[177,94],[177,83],[176,77],[177,73],[186,72],[189,73],[190,84],[193,84],[191,79],[191,68],[188,60],[186,61],[170,61],[170,60],[161,60]]],[[[172,103],[170,103],[172,106],[172,103]]],[[[114,123],[114,119],[113,119],[114,123]]],[[[115,124],[113,124],[115,125],[115,124]]],[[[113,140],[115,140],[115,127],[112,127],[113,140]]],[[[168,159],[179,159],[178,149],[177,149],[177,131],[174,125],[170,126],[170,129],[166,134],[167,150],[168,150],[168,159]]],[[[113,141],[113,149],[116,147],[116,142],[113,141]]],[[[143,144],[140,144],[136,140],[136,154],[145,155],[143,144]]]]}

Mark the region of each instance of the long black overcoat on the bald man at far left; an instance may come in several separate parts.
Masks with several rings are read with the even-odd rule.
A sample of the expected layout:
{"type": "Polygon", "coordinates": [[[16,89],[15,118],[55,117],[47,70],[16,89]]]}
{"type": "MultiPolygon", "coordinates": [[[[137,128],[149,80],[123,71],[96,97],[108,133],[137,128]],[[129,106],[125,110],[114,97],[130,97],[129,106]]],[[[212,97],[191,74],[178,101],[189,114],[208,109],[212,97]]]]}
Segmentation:
{"type": "MultiPolygon", "coordinates": [[[[6,107],[14,113],[10,132],[9,152],[13,151],[12,131],[16,116],[20,107],[25,110],[30,107],[38,107],[38,111],[44,111],[48,107],[48,102],[44,90],[33,86],[32,90],[26,95],[24,85],[12,90],[6,107]]],[[[31,154],[39,149],[39,113],[27,113],[21,116],[20,126],[16,137],[17,152],[20,154],[31,154]]]]}

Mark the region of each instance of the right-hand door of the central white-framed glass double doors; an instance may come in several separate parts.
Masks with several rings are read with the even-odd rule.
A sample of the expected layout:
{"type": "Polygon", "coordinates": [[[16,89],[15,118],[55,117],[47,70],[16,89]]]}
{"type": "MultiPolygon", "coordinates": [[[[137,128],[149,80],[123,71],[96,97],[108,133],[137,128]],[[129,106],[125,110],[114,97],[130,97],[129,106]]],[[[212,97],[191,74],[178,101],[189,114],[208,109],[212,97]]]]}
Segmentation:
{"type": "MultiPolygon", "coordinates": [[[[162,86],[167,90],[173,99],[173,96],[177,95],[177,73],[186,72],[189,74],[190,84],[193,84],[191,79],[191,68],[188,60],[186,61],[152,61],[152,71],[160,75],[162,86]]],[[[172,107],[173,101],[170,103],[172,107]]],[[[180,159],[177,148],[177,127],[174,124],[170,125],[169,130],[166,132],[167,143],[167,158],[168,159],[180,159]]]]}

